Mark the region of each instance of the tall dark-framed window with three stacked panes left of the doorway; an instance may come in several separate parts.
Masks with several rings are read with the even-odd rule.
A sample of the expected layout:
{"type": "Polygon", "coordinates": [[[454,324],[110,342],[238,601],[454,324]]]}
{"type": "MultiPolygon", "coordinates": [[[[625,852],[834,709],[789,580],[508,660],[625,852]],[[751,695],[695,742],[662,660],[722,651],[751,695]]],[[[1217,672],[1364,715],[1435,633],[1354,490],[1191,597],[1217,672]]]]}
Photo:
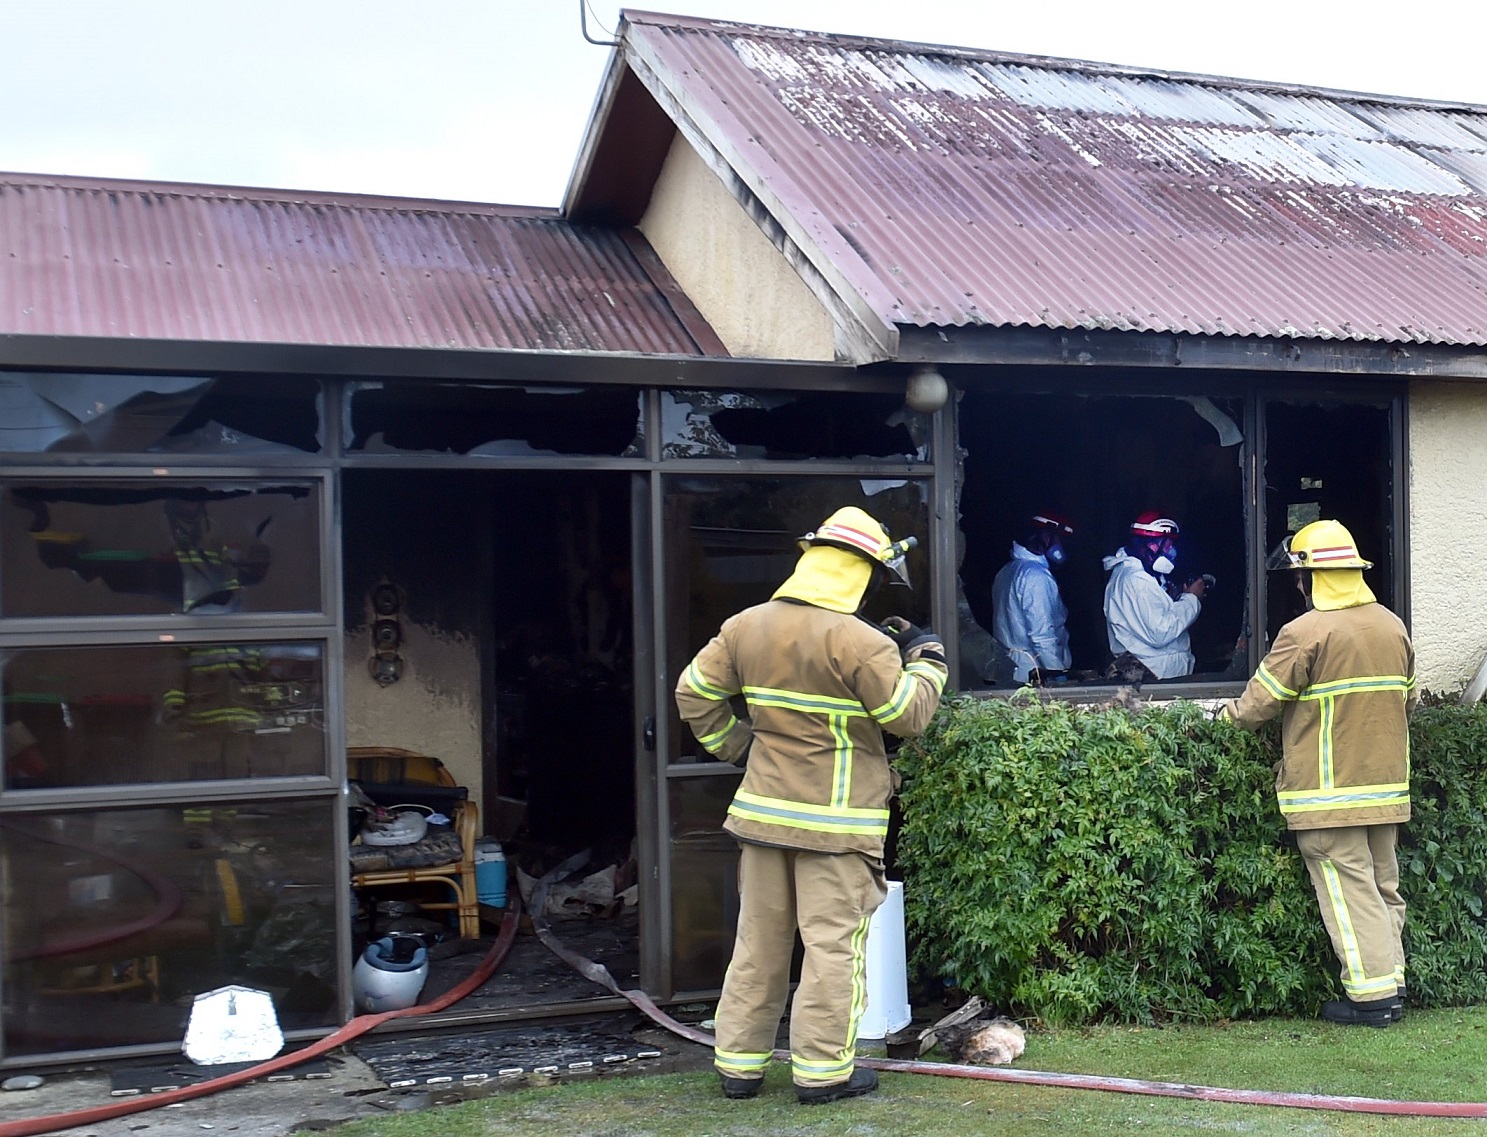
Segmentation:
{"type": "MultiPolygon", "coordinates": [[[[180,956],[174,972],[178,981],[192,968],[204,968],[207,979],[228,982],[239,963],[278,966],[284,960],[259,948],[274,936],[287,942],[284,921],[297,919],[294,913],[303,917],[300,930],[318,945],[296,959],[317,971],[320,1002],[309,1014],[281,1008],[287,1034],[323,1034],[349,1006],[349,974],[342,966],[349,954],[349,914],[336,868],[342,864],[338,850],[346,841],[339,782],[343,731],[339,716],[326,713],[343,702],[339,606],[329,600],[338,595],[339,578],[330,468],[223,465],[220,455],[198,453],[167,459],[172,465],[161,465],[161,455],[137,455],[135,462],[152,462],[141,468],[129,458],[89,465],[76,453],[10,452],[0,461],[0,495],[21,489],[34,502],[59,493],[57,501],[48,501],[51,505],[123,502],[126,513],[143,508],[153,519],[147,526],[150,540],[138,542],[138,548],[116,540],[144,525],[132,513],[117,523],[109,519],[91,550],[80,550],[73,540],[77,534],[67,526],[42,531],[76,554],[79,565],[120,569],[123,575],[114,583],[125,592],[109,592],[103,575],[83,587],[129,603],[30,603],[33,592],[19,608],[24,614],[0,611],[6,727],[0,846],[10,856],[30,856],[37,847],[76,853],[59,858],[57,871],[46,878],[61,893],[58,919],[86,911],[104,926],[140,926],[137,936],[131,932],[134,938],[119,941],[117,959],[103,947],[74,942],[77,936],[57,939],[51,924],[45,950],[7,942],[0,972],[7,1008],[0,1023],[0,1067],[24,1064],[25,1055],[42,1052],[82,1060],[116,1052],[120,1045],[137,1052],[178,1049],[180,1033],[168,1023],[144,1027],[112,1012],[85,1014],[77,1030],[54,1031],[45,1017],[10,1009],[37,999],[45,1003],[59,997],[58,991],[73,1000],[101,1000],[100,1006],[109,999],[147,997],[162,990],[170,953],[190,957],[186,963],[186,954],[180,956]],[[299,508],[293,523],[283,513],[266,534],[253,532],[263,514],[250,510],[251,517],[235,517],[235,523],[247,525],[247,537],[229,545],[245,548],[268,537],[274,545],[271,575],[293,568],[293,547],[312,553],[315,563],[306,571],[314,575],[315,596],[296,600],[303,590],[290,587],[284,593],[290,599],[253,611],[254,605],[233,603],[235,590],[228,587],[230,581],[239,589],[263,587],[251,583],[262,569],[251,550],[239,559],[229,545],[180,545],[175,540],[202,523],[196,507],[205,505],[211,516],[219,507],[241,513],[244,505],[266,501],[257,490],[272,487],[293,487],[288,495],[269,493],[277,505],[309,501],[314,508],[299,508]],[[165,499],[186,508],[158,508],[165,499]],[[281,525],[283,534],[275,529],[281,525]],[[280,535],[293,537],[280,542],[280,535]],[[199,560],[187,554],[192,550],[204,553],[199,560]],[[89,559],[83,551],[95,556],[89,559]],[[181,569],[189,565],[223,587],[187,589],[181,569]],[[165,587],[172,597],[178,589],[180,597],[199,602],[131,606],[140,600],[128,593],[134,587],[150,595],[165,587]],[[120,762],[126,768],[114,768],[120,762]],[[286,832],[312,855],[294,859],[277,875],[266,874],[269,862],[245,855],[262,840],[280,840],[286,832]],[[213,856],[213,849],[220,852],[213,856]],[[300,907],[281,911],[269,896],[281,896],[286,904],[293,898],[300,907]],[[181,919],[149,924],[168,904],[181,919]],[[134,953],[135,941],[149,941],[149,948],[134,953]],[[333,947],[321,951],[327,944],[333,947]],[[89,968],[104,969],[106,978],[94,985],[106,990],[94,994],[83,982],[80,994],[68,994],[68,984],[82,982],[79,976],[89,968]]],[[[0,547],[0,592],[6,572],[13,571],[9,562],[37,556],[39,542],[24,513],[9,517],[25,532],[0,547]]],[[[59,516],[52,513],[54,519],[59,516]]],[[[73,569],[68,562],[49,571],[73,569]]],[[[24,907],[33,893],[7,889],[4,904],[24,907]]],[[[18,926],[34,924],[19,908],[9,916],[18,926]]],[[[170,999],[174,994],[167,993],[170,999]]]]}

